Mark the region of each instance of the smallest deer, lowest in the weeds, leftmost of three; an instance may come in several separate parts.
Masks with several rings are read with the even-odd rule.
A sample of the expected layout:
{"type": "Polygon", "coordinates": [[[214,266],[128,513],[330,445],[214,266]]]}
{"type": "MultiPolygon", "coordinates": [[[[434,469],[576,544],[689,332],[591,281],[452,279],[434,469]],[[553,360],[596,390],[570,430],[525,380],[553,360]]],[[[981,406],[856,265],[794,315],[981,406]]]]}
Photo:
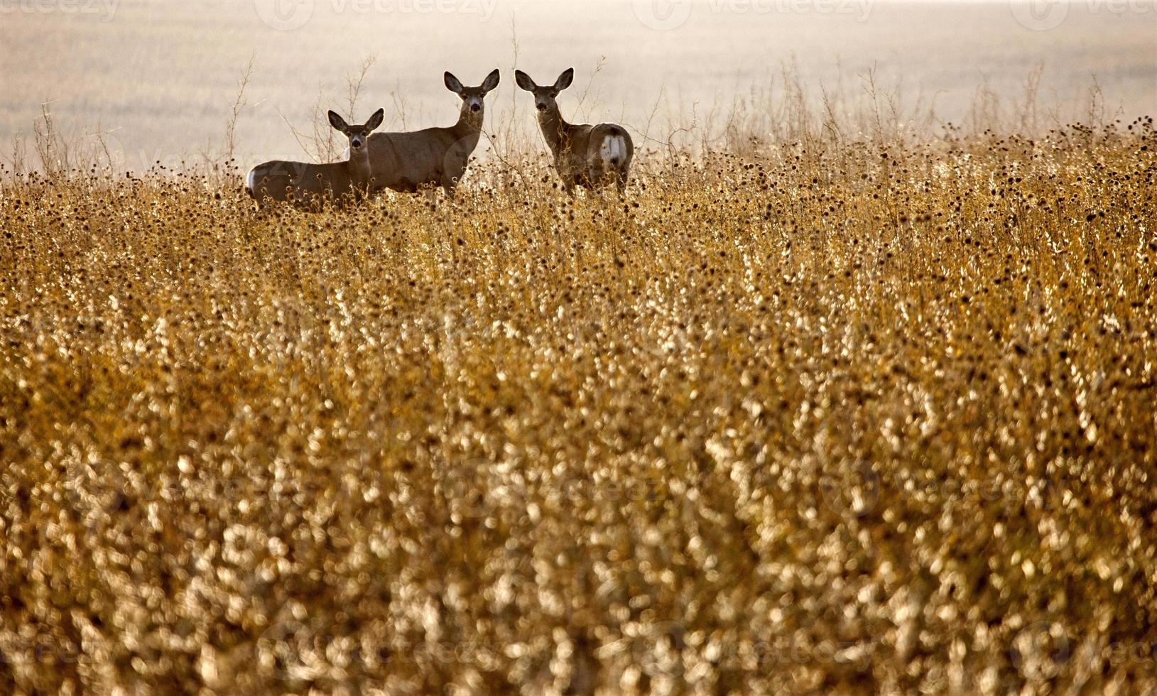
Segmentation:
{"type": "Polygon", "coordinates": [[[378,109],[369,120],[351,126],[344,118],[329,112],[330,125],[348,139],[342,162],[312,164],[273,160],[258,164],[245,177],[245,190],[258,205],[266,201],[292,202],[299,207],[320,208],[329,200],[337,206],[361,200],[373,185],[369,160],[369,136],[382,125],[385,111],[378,109]]]}

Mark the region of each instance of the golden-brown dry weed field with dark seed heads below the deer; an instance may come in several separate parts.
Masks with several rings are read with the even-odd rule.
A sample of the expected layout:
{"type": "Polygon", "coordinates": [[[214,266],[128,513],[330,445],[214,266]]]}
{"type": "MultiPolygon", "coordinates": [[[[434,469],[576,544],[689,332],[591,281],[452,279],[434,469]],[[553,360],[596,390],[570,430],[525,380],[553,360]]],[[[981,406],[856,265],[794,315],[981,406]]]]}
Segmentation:
{"type": "Polygon", "coordinates": [[[1155,155],[3,172],[0,691],[1154,694],[1155,155]]]}

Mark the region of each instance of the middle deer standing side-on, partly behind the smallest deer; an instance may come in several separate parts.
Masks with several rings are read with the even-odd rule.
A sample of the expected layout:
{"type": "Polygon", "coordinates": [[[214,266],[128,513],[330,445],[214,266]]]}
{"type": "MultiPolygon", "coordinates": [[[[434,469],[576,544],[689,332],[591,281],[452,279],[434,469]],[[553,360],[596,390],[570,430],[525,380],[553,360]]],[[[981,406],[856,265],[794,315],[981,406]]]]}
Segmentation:
{"type": "MultiPolygon", "coordinates": [[[[414,193],[441,186],[454,198],[454,187],[466,173],[470,155],[478,147],[486,113],[486,94],[499,86],[495,68],[478,87],[464,87],[447,72],[445,88],[462,97],[458,123],[449,127],[423,128],[404,133],[375,133],[369,139],[369,160],[374,188],[414,193]]],[[[433,197],[433,191],[428,194],[433,197]]]]}

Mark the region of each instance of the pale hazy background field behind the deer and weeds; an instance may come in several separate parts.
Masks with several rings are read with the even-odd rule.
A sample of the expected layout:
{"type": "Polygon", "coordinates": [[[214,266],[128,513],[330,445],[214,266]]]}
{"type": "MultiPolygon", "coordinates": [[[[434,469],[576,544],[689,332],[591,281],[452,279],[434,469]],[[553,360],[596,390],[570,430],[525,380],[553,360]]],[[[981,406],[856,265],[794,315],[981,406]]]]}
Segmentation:
{"type": "Polygon", "coordinates": [[[384,106],[390,128],[448,125],[458,101],[442,72],[477,84],[500,67],[489,129],[537,136],[511,79],[516,44],[517,66],[540,81],[576,67],[560,99],[568,117],[618,119],[636,140],[664,140],[676,125],[707,133],[737,98],[749,112],[774,110],[786,66],[809,98],[827,90],[849,109],[875,68],[902,116],[926,124],[967,125],[981,103],[1011,114],[1038,68],[1038,126],[1085,117],[1098,87],[1106,118],[1157,105],[1151,0],[0,0],[0,153],[10,160],[12,139],[31,134],[45,102],[80,141],[110,134],[128,169],[220,153],[250,57],[242,166],[302,157],[288,124],[307,127],[319,94],[342,110],[346,77],[369,57],[353,118],[384,106]]]}

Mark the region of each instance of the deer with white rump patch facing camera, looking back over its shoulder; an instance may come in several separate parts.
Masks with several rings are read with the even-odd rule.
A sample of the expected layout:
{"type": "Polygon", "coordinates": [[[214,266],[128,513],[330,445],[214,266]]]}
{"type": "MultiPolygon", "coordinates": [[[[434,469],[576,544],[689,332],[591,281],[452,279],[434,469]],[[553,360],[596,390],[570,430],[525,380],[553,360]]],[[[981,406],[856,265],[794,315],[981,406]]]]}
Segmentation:
{"type": "Polygon", "coordinates": [[[514,73],[518,87],[535,95],[538,125],[554,155],[563,190],[574,195],[575,186],[592,190],[613,182],[622,195],[635,146],[626,128],[617,124],[568,124],[562,118],[555,98],[570,87],[574,76],[575,69],[567,68],[554,84],[539,87],[526,73],[514,73]]]}

